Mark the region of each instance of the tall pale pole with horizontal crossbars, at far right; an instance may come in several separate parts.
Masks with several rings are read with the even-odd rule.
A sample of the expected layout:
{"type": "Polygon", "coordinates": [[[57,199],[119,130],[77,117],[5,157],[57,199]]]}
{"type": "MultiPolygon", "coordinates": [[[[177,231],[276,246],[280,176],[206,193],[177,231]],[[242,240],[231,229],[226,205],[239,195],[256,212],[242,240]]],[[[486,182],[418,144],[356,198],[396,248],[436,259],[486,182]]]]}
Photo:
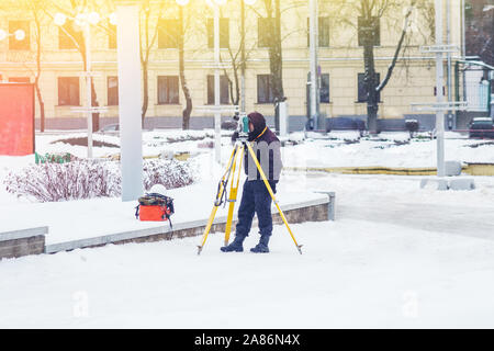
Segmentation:
{"type": "MultiPolygon", "coordinates": [[[[435,0],[436,8],[436,45],[442,45],[442,1],[435,0]]],[[[442,52],[436,53],[436,95],[437,102],[444,101],[444,67],[442,52]]],[[[436,131],[437,131],[437,176],[445,177],[445,112],[439,110],[436,112],[436,131]]]]}

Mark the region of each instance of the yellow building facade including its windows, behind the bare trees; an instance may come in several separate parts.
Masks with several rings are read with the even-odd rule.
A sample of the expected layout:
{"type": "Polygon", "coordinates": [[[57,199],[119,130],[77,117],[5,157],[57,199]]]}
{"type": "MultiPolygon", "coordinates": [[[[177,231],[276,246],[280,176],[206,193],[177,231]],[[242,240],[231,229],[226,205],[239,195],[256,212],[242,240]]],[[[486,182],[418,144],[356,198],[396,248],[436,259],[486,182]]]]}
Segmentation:
{"type": "MultiPolygon", "coordinates": [[[[239,65],[243,37],[240,1],[229,0],[221,9],[221,56],[222,63],[229,64],[221,79],[222,104],[231,104],[236,94],[232,63],[239,65]],[[232,60],[232,57],[235,59],[232,60]],[[229,81],[233,82],[232,87],[229,81]]],[[[364,120],[367,115],[359,22],[359,5],[362,1],[366,0],[318,1],[321,113],[328,118],[351,116],[364,120]]],[[[83,105],[86,101],[83,55],[75,44],[77,41],[74,39],[81,36],[82,32],[77,25],[69,27],[55,24],[55,15],[60,9],[74,13],[70,12],[68,1],[58,2],[57,7],[47,7],[40,12],[37,18],[40,31],[34,10],[16,5],[20,2],[11,5],[5,2],[5,5],[0,8],[0,29],[11,34],[19,29],[26,33],[23,41],[9,36],[0,42],[0,78],[3,82],[34,82],[36,60],[40,58],[40,88],[44,101],[46,128],[83,128],[85,118],[71,111],[71,107],[83,105]],[[38,37],[41,37],[40,56],[37,56],[38,37]]],[[[104,125],[117,121],[119,110],[116,33],[115,26],[109,21],[109,14],[114,11],[114,5],[111,1],[104,0],[93,2],[89,10],[99,11],[101,21],[91,26],[91,64],[92,71],[97,73],[94,88],[98,103],[109,107],[108,113],[101,115],[100,125],[104,125]]],[[[191,117],[192,128],[213,125],[212,116],[197,109],[214,103],[213,11],[206,2],[191,0],[183,9],[184,75],[194,107],[191,117]]],[[[435,56],[420,50],[420,46],[434,45],[434,1],[418,2],[420,5],[414,9],[411,16],[400,59],[380,97],[379,118],[389,121],[386,124],[389,128],[402,125],[403,120],[411,116],[419,118],[424,126],[434,126],[434,116],[417,114],[411,107],[414,102],[427,103],[436,100],[435,56]]],[[[308,1],[287,0],[281,1],[281,4],[283,88],[291,115],[291,129],[302,129],[306,120],[306,83],[310,71],[308,1]]],[[[406,2],[396,1],[378,18],[374,58],[380,79],[385,77],[394,56],[403,30],[406,5],[406,2]]],[[[449,43],[459,47],[462,44],[460,7],[460,0],[451,0],[445,1],[444,8],[445,13],[449,11],[449,16],[445,16],[445,21],[448,18],[450,21],[449,25],[445,24],[445,29],[449,31],[448,33],[445,31],[445,42],[449,39],[449,43]],[[449,3],[448,8],[446,3],[449,3]]],[[[147,18],[145,11],[142,11],[142,46],[145,48],[147,42],[151,43],[148,60],[149,101],[145,120],[149,127],[181,125],[184,97],[179,78],[179,50],[176,43],[170,41],[170,36],[176,35],[178,11],[175,1],[167,5],[160,4],[159,1],[151,2],[147,18]],[[148,25],[147,41],[146,25],[148,25]]],[[[258,0],[254,5],[246,7],[245,15],[246,110],[259,111],[270,116],[269,121],[272,121],[270,65],[266,47],[270,37],[266,31],[263,2],[258,0]]],[[[446,71],[448,69],[445,69],[446,71]]],[[[445,84],[446,89],[453,87],[453,82],[448,81],[447,77],[445,84]]],[[[444,93],[447,95],[446,91],[444,93]]],[[[38,118],[37,104],[36,109],[38,118]]]]}

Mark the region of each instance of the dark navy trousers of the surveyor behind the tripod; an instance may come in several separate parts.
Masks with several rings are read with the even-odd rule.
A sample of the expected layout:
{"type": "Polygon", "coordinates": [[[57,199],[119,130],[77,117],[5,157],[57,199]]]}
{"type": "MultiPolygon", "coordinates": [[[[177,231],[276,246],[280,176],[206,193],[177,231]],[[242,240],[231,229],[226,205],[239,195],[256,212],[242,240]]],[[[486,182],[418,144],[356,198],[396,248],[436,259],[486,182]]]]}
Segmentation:
{"type": "MultiPolygon", "coordinates": [[[[273,191],[274,186],[274,184],[271,186],[273,191]]],[[[263,181],[246,180],[242,193],[240,207],[238,208],[238,223],[235,235],[247,237],[252,225],[254,214],[257,214],[259,234],[261,236],[270,236],[272,233],[271,202],[271,195],[263,181]]]]}

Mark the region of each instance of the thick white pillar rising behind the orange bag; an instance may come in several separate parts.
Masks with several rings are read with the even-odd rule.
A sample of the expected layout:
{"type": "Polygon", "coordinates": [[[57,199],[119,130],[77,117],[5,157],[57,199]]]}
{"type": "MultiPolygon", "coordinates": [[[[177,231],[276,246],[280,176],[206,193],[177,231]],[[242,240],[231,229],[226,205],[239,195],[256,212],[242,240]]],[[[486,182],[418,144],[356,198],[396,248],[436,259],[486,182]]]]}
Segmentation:
{"type": "Polygon", "coordinates": [[[135,201],[144,192],[139,9],[132,3],[116,9],[122,201],[135,201]]]}

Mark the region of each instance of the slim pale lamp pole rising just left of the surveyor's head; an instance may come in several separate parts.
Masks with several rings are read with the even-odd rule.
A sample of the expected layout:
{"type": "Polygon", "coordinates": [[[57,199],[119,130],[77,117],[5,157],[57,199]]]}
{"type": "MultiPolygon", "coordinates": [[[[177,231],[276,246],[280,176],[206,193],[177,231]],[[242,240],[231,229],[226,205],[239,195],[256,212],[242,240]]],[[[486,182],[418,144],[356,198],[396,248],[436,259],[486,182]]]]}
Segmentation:
{"type": "Polygon", "coordinates": [[[220,8],[214,4],[214,151],[215,160],[222,161],[222,114],[220,112],[220,8]]]}

